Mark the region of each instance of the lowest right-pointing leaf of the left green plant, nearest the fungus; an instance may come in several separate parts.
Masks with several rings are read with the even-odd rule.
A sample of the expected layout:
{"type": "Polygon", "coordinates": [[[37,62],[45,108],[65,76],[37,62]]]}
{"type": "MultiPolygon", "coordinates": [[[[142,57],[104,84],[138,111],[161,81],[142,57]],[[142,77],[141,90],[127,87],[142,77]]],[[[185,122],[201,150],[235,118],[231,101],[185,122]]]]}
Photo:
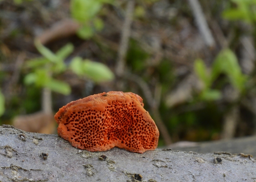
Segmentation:
{"type": "Polygon", "coordinates": [[[48,81],[45,84],[45,86],[52,91],[55,91],[64,95],[69,95],[71,93],[71,88],[69,84],[62,81],[55,80],[55,79],[51,79],[50,81],[48,81]]]}

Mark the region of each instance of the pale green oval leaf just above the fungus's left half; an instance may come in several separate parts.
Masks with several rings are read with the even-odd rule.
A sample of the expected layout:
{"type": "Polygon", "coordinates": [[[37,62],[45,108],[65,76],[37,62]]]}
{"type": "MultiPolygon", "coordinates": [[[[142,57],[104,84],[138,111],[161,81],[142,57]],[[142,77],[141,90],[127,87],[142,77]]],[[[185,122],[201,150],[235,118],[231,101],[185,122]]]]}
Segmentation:
{"type": "Polygon", "coordinates": [[[95,82],[111,81],[114,79],[113,72],[100,62],[85,60],[83,62],[83,71],[87,77],[95,82]]]}

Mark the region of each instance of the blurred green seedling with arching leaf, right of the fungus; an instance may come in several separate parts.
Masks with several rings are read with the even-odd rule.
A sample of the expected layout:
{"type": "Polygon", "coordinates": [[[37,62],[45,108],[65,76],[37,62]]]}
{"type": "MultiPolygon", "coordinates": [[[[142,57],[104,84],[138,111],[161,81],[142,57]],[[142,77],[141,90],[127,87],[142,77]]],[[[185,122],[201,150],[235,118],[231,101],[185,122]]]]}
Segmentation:
{"type": "Polygon", "coordinates": [[[247,76],[242,74],[236,55],[230,49],[220,51],[213,62],[211,71],[207,70],[204,61],[197,59],[194,62],[194,71],[200,80],[204,83],[204,88],[200,94],[202,100],[218,100],[221,98],[221,91],[212,89],[213,82],[216,81],[220,74],[225,74],[229,82],[239,92],[245,90],[247,76]]]}

